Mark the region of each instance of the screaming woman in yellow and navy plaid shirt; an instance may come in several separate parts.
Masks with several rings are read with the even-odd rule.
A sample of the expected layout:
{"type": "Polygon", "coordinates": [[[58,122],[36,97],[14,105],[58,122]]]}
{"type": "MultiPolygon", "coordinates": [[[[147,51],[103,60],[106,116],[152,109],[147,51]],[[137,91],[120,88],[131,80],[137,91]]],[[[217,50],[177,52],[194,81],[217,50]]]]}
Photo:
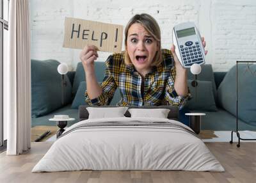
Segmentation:
{"type": "Polygon", "coordinates": [[[159,25],[148,14],[134,15],[128,22],[125,51],[109,56],[100,85],[93,65],[97,57],[93,45],[84,47],[80,54],[88,104],[109,105],[116,88],[122,93],[118,106],[175,105],[181,109],[189,98],[187,71],[180,65],[174,45],[170,50],[161,49],[159,25]]]}

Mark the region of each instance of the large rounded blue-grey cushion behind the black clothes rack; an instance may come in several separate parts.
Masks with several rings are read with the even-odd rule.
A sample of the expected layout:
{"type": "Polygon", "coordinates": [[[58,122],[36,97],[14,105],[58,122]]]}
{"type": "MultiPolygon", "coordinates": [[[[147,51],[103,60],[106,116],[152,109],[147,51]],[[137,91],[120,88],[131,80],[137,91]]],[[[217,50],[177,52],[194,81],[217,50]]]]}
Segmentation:
{"type": "MultiPolygon", "coordinates": [[[[250,70],[255,72],[256,65],[250,70]]],[[[256,76],[248,71],[247,64],[238,65],[238,117],[244,122],[256,125],[256,76]]],[[[218,88],[220,105],[236,116],[236,65],[224,77],[218,88]]]]}

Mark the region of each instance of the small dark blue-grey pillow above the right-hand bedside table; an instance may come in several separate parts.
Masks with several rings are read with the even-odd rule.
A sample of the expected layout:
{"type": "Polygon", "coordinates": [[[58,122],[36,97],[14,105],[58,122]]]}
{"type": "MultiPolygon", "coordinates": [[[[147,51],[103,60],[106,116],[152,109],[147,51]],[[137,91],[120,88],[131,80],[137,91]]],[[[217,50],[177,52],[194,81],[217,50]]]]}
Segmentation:
{"type": "Polygon", "coordinates": [[[192,99],[188,100],[187,107],[191,110],[218,111],[212,90],[212,81],[197,81],[197,88],[188,80],[189,91],[192,99]],[[197,93],[196,93],[197,92],[197,93]]]}

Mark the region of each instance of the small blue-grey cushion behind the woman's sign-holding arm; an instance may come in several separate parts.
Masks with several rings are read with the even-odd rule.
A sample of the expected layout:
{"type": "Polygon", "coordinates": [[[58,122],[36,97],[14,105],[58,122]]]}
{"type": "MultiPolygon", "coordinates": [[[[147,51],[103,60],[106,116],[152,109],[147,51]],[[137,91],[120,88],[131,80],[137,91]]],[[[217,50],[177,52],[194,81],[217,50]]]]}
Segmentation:
{"type": "MultiPolygon", "coordinates": [[[[79,84],[78,90],[76,92],[76,97],[74,98],[72,102],[72,108],[78,109],[79,106],[88,106],[88,104],[84,100],[84,92],[86,90],[86,82],[82,81],[79,84]]],[[[111,100],[110,105],[115,106],[117,102],[121,99],[120,90],[116,90],[115,95],[113,99],[111,100]]]]}

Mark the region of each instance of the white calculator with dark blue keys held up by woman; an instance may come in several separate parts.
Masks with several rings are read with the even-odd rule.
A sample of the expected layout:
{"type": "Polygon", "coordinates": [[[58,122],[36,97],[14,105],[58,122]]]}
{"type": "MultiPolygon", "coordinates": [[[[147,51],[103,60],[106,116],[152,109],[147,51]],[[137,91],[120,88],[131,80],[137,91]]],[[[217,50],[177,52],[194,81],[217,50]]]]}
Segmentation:
{"type": "Polygon", "coordinates": [[[173,44],[175,53],[184,68],[193,63],[205,63],[205,51],[198,29],[193,22],[178,24],[173,28],[173,44]]]}

